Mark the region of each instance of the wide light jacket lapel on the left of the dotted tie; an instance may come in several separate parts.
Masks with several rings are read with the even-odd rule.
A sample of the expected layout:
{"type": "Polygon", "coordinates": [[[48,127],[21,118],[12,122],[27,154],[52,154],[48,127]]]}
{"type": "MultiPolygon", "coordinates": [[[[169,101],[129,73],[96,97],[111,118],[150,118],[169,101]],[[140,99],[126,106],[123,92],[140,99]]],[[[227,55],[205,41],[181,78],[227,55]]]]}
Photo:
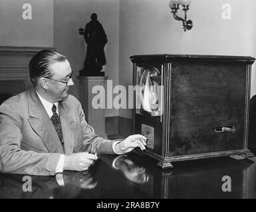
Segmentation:
{"type": "Polygon", "coordinates": [[[29,90],[29,124],[42,138],[49,152],[64,154],[59,136],[51,123],[51,119],[45,111],[35,89],[29,90]]]}

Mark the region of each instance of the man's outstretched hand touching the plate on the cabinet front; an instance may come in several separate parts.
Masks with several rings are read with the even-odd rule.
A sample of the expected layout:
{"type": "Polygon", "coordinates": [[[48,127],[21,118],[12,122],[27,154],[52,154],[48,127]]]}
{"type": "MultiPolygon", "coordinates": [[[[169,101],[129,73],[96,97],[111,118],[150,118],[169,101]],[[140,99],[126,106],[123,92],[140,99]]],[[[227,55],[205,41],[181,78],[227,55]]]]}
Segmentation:
{"type": "Polygon", "coordinates": [[[141,150],[146,149],[147,138],[142,134],[132,134],[125,138],[122,142],[116,144],[116,151],[127,153],[132,151],[136,147],[140,147],[141,150]]]}

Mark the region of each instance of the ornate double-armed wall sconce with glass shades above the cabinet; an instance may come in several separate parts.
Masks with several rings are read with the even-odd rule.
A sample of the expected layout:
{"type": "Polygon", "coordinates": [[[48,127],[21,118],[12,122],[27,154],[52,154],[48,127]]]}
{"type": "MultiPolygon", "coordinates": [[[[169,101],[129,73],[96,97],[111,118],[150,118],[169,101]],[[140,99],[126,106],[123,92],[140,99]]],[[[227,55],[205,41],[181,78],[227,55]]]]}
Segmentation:
{"type": "Polygon", "coordinates": [[[191,0],[171,0],[169,4],[170,9],[172,9],[171,13],[174,15],[174,19],[182,21],[184,32],[186,32],[186,30],[191,30],[193,26],[193,22],[191,20],[187,21],[187,11],[190,9],[190,3],[191,0]],[[178,10],[180,9],[180,4],[182,5],[182,10],[185,14],[184,19],[177,15],[178,10]]]}

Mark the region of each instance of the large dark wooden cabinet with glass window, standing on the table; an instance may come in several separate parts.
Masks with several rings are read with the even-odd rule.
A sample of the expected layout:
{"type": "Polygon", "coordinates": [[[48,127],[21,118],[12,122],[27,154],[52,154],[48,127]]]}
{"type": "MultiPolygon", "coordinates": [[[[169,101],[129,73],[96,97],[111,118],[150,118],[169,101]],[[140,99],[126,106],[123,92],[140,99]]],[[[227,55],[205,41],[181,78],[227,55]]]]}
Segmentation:
{"type": "MultiPolygon", "coordinates": [[[[132,56],[131,60],[138,87],[134,131],[148,136],[145,153],[158,159],[162,168],[180,160],[251,154],[247,134],[255,58],[160,54],[132,56]],[[152,91],[147,85],[154,83],[143,83],[143,78],[152,68],[158,70],[162,85],[160,115],[152,113],[156,104],[147,109],[143,105],[146,93],[152,91]]],[[[154,75],[151,71],[148,81],[154,75]]]]}

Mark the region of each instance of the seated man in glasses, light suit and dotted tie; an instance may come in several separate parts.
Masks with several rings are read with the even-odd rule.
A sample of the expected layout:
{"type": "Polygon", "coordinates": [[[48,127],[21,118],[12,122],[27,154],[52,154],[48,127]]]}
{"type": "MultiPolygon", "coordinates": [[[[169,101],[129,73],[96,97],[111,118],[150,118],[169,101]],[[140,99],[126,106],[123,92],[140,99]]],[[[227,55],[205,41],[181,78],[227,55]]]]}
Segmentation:
{"type": "Polygon", "coordinates": [[[55,175],[82,171],[98,154],[124,154],[145,149],[140,134],[124,140],[96,136],[84,119],[80,102],[68,95],[74,85],[68,60],[58,52],[42,50],[29,62],[33,88],[0,106],[0,172],[55,175]]]}

